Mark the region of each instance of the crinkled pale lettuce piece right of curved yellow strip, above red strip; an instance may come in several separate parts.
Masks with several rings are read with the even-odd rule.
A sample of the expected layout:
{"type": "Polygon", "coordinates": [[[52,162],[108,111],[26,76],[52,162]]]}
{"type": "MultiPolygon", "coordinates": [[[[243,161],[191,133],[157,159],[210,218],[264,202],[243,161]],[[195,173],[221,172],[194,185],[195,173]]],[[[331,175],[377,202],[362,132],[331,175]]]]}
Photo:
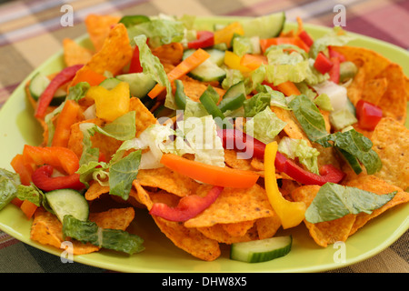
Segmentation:
{"type": "Polygon", "coordinates": [[[304,139],[284,136],[278,144],[278,151],[291,159],[297,157],[300,164],[304,165],[310,172],[319,175],[317,157],[320,152],[316,148],[308,146],[304,139]]]}

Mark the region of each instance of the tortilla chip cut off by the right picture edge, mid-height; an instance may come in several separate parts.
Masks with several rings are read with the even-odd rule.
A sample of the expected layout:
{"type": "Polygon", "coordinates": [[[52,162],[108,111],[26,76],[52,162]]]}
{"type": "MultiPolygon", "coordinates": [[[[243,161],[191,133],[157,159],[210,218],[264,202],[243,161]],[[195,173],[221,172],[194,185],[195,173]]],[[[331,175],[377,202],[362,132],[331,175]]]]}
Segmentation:
{"type": "Polygon", "coordinates": [[[409,187],[409,129],[393,118],[382,118],[372,135],[382,168],[374,175],[402,189],[409,187]]]}

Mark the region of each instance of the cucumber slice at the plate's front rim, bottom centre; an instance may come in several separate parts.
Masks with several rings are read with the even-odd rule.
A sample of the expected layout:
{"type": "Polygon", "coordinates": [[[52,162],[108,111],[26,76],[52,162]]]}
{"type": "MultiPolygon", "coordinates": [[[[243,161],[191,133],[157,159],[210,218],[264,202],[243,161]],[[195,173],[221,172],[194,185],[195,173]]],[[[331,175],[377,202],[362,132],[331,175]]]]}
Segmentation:
{"type": "Polygon", "coordinates": [[[287,255],[293,245],[293,236],[277,236],[234,243],[230,248],[230,258],[247,263],[259,263],[287,255]]]}

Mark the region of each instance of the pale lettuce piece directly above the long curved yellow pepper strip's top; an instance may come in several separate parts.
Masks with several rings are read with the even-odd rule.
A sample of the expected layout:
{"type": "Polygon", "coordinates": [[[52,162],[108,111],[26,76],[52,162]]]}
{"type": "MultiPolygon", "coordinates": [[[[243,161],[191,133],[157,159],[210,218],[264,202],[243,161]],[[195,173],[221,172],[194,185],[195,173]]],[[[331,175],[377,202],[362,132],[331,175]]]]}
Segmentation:
{"type": "Polygon", "coordinates": [[[283,130],[285,125],[286,123],[271,111],[270,106],[266,106],[263,111],[245,123],[245,132],[264,144],[268,144],[274,141],[275,136],[283,130]]]}

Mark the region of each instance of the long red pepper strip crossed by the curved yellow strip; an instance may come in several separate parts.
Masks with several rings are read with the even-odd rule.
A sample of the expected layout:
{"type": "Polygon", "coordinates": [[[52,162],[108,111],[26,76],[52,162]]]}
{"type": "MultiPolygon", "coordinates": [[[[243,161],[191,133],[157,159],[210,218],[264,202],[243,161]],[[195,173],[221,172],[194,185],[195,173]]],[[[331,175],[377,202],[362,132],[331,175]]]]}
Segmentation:
{"type": "MultiPolygon", "coordinates": [[[[251,135],[234,129],[224,129],[217,132],[223,141],[224,148],[253,153],[253,157],[264,159],[265,144],[251,135]]],[[[249,156],[250,158],[252,156],[249,156]]],[[[320,168],[320,175],[308,172],[294,161],[277,152],[274,161],[278,172],[291,176],[294,180],[304,185],[324,185],[326,182],[339,183],[345,176],[344,172],[332,165],[324,165],[320,168]]]]}

